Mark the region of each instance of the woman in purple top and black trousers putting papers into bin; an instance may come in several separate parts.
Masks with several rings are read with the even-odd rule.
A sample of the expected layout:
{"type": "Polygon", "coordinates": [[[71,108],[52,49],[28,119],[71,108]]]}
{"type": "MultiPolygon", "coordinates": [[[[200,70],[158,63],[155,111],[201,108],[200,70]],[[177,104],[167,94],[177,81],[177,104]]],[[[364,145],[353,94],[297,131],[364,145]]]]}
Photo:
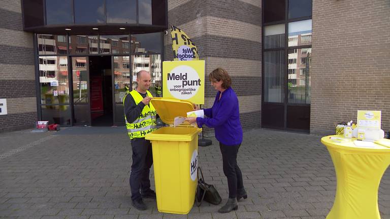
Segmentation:
{"type": "Polygon", "coordinates": [[[215,130],[215,138],[219,141],[222,153],[223,173],[228,178],[229,187],[228,202],[218,212],[228,213],[238,209],[237,201],[248,197],[237,165],[237,153],[242,142],[239,104],[237,95],[231,88],[232,80],[225,69],[213,70],[209,79],[218,92],[213,106],[203,109],[207,118],[189,117],[186,121],[191,124],[197,122],[198,127],[206,125],[215,130]]]}

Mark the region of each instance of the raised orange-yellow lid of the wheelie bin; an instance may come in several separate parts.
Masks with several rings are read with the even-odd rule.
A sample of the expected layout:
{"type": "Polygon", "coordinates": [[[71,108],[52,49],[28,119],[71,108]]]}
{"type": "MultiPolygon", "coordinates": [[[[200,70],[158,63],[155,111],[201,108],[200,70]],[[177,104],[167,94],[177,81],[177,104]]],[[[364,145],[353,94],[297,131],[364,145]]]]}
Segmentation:
{"type": "Polygon", "coordinates": [[[166,124],[173,124],[175,117],[186,118],[187,112],[194,111],[192,103],[188,100],[154,97],[150,102],[156,109],[158,116],[166,124]]]}

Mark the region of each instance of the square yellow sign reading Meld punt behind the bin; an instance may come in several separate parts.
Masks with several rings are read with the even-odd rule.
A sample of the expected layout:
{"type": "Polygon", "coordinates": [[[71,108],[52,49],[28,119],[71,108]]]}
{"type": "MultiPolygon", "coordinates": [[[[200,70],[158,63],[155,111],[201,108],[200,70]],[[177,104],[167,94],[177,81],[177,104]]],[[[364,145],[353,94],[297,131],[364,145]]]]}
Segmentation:
{"type": "Polygon", "coordinates": [[[163,61],[163,97],[205,103],[205,61],[163,61]]]}

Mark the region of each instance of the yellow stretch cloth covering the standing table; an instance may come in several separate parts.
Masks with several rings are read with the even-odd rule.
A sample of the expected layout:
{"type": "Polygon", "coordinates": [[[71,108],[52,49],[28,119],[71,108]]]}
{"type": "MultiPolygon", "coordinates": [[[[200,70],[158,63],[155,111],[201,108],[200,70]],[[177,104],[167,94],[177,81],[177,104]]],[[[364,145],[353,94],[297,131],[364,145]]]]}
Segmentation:
{"type": "Polygon", "coordinates": [[[332,157],[337,178],[335,202],[327,219],[380,219],[378,188],[390,164],[390,147],[386,147],[390,140],[381,139],[384,146],[357,147],[355,138],[344,141],[331,137],[343,138],[321,138],[332,157]]]}

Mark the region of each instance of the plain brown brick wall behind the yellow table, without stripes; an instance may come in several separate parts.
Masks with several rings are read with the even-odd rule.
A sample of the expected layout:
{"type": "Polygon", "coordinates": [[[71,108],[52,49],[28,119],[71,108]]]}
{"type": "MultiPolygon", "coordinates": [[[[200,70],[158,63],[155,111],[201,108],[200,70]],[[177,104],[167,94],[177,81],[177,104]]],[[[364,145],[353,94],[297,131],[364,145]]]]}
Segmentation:
{"type": "Polygon", "coordinates": [[[390,129],[390,4],[313,0],[310,132],[356,120],[358,109],[382,111],[390,129]]]}

